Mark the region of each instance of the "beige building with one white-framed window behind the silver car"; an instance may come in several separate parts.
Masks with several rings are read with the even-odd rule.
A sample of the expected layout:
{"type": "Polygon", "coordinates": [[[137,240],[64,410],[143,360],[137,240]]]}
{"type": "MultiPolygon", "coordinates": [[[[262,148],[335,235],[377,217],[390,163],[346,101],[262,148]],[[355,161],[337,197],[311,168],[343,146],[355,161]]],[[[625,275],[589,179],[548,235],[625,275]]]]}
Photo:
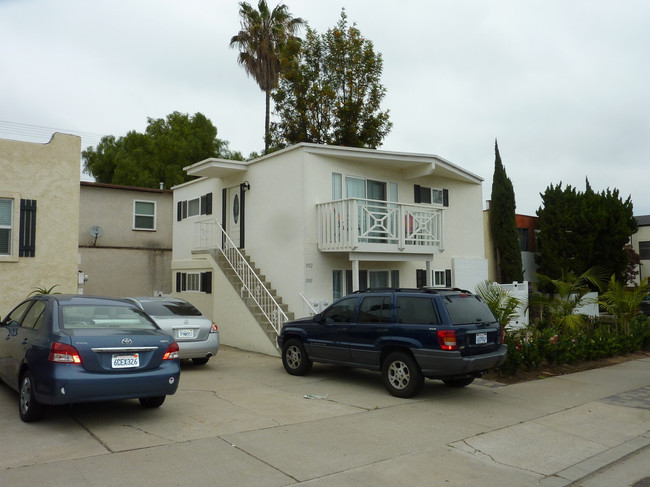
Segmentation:
{"type": "Polygon", "coordinates": [[[79,292],[112,297],[169,294],[172,205],[168,189],[82,181],[76,229],[79,292]]]}

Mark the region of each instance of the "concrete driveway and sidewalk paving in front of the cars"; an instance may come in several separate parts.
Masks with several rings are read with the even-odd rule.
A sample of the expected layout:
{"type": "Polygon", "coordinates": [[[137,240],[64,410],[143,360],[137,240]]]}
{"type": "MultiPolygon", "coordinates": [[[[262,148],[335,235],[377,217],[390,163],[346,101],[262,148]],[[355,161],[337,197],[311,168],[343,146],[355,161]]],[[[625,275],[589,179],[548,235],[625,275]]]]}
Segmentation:
{"type": "MultiPolygon", "coordinates": [[[[223,347],[158,410],[53,408],[24,424],[0,386],[0,485],[626,486],[650,476],[650,359],[504,386],[427,381],[223,347]],[[645,470],[644,470],[645,469],[645,470]]],[[[650,481],[649,481],[650,482],[650,481]]],[[[648,484],[650,485],[650,483],[648,484]]]]}

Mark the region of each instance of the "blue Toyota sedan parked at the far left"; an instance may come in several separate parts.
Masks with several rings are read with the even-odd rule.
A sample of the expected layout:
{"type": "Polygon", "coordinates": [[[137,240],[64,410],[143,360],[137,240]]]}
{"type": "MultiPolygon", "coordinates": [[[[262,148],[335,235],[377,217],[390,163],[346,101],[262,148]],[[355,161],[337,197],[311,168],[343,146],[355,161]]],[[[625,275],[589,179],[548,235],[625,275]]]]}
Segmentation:
{"type": "Polygon", "coordinates": [[[0,378],[26,422],[46,405],[137,398],[155,408],[178,388],[178,344],[132,303],[38,295],[0,321],[0,378]]]}

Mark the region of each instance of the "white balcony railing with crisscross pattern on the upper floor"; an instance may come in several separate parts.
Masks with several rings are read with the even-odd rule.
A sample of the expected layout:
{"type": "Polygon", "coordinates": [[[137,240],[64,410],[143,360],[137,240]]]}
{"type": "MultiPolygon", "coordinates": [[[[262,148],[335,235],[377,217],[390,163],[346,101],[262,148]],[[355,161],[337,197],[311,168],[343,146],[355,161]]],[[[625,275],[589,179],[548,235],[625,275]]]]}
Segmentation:
{"type": "Polygon", "coordinates": [[[440,208],[360,198],[316,207],[322,252],[433,254],[444,248],[440,208]]]}

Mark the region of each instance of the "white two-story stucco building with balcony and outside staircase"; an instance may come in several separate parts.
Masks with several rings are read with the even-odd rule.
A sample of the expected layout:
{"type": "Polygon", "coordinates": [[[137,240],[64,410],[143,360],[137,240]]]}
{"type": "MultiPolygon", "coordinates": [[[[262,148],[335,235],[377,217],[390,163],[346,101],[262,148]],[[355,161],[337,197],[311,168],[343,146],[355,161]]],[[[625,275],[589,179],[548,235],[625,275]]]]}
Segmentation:
{"type": "Polygon", "coordinates": [[[299,144],[186,171],[199,179],[174,188],[174,292],[225,344],[276,353],[287,317],[357,289],[487,279],[483,180],[440,157],[299,144]]]}

